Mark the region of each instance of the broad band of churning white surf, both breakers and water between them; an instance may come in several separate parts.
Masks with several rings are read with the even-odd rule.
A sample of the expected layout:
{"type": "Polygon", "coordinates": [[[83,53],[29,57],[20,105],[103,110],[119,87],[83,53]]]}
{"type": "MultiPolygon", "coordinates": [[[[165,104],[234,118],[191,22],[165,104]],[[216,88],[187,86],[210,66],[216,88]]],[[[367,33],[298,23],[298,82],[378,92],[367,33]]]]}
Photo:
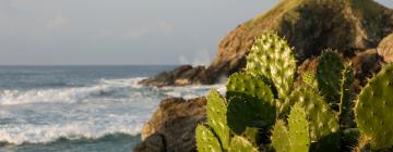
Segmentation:
{"type": "Polygon", "coordinates": [[[224,85],[143,87],[142,78],[102,79],[86,87],[3,90],[0,92],[0,142],[51,142],[59,138],[136,135],[159,101],[194,98],[224,85]]]}

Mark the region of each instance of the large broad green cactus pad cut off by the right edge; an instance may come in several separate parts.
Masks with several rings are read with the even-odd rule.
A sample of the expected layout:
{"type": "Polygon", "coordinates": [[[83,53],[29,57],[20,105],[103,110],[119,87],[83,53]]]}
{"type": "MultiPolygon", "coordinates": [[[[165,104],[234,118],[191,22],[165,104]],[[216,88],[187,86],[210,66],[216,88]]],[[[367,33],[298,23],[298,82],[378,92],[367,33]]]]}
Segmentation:
{"type": "Polygon", "coordinates": [[[355,119],[373,150],[393,145],[393,64],[386,65],[361,90],[355,119]]]}

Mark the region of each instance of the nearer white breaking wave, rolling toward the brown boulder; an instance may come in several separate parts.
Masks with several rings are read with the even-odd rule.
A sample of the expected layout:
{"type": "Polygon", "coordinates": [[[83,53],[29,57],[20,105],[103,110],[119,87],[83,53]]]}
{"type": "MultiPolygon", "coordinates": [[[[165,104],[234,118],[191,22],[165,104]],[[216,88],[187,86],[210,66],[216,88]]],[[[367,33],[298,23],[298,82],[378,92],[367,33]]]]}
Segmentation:
{"type": "Polygon", "coordinates": [[[112,121],[73,122],[53,125],[13,125],[0,128],[0,142],[11,144],[49,143],[58,139],[99,139],[108,135],[124,134],[136,136],[143,123],[129,117],[114,117],[112,121]],[[132,126],[132,127],[130,127],[132,126]]]}

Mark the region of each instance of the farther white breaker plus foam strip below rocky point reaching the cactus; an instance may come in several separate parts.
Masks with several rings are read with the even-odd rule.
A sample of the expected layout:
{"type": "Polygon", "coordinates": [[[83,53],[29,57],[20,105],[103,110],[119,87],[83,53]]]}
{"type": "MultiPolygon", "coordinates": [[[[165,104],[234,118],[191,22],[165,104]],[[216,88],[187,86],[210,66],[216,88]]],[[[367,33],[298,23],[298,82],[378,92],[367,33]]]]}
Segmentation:
{"type": "MultiPolygon", "coordinates": [[[[102,79],[97,84],[87,87],[32,89],[27,91],[2,90],[0,91],[0,104],[29,104],[29,103],[79,103],[97,101],[97,99],[134,98],[146,97],[182,97],[186,99],[204,96],[206,90],[217,88],[225,90],[224,85],[212,86],[187,86],[187,87],[143,87],[138,84],[143,79],[102,79]]],[[[224,91],[222,91],[224,92],[224,91]]]]}

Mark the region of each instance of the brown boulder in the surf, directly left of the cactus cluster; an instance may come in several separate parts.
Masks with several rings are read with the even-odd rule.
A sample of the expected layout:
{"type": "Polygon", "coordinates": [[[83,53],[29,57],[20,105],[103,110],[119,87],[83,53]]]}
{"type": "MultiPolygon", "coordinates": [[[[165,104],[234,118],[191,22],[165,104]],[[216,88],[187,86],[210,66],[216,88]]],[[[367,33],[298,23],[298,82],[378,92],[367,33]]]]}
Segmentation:
{"type": "Polygon", "coordinates": [[[190,152],[195,151],[194,130],[205,121],[205,98],[162,101],[158,110],[143,126],[143,141],[135,152],[190,152]]]}

